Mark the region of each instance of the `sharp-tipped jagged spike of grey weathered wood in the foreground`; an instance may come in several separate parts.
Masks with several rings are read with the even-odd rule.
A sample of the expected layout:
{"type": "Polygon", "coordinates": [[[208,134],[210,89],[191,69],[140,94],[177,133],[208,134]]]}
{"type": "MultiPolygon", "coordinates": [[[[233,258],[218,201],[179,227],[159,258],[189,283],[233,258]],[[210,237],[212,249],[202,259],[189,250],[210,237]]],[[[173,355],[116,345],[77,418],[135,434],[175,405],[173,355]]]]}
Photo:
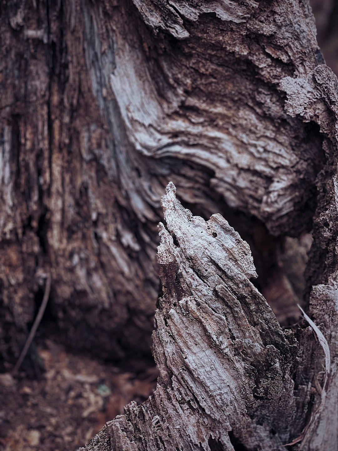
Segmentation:
{"type": "Polygon", "coordinates": [[[156,391],[83,449],[278,449],[304,426],[290,372],[297,341],[251,284],[247,243],[219,214],[192,216],[175,191],[159,226],[156,391]]]}

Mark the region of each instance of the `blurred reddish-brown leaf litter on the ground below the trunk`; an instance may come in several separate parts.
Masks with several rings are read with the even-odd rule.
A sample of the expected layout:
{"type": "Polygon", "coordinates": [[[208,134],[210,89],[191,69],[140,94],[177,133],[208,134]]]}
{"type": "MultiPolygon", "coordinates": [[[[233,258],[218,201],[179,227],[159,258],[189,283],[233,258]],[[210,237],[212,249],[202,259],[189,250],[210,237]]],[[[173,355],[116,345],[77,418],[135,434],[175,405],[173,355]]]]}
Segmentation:
{"type": "Polygon", "coordinates": [[[121,372],[45,340],[39,380],[0,375],[0,450],[78,450],[131,400],[154,391],[157,370],[121,372]]]}

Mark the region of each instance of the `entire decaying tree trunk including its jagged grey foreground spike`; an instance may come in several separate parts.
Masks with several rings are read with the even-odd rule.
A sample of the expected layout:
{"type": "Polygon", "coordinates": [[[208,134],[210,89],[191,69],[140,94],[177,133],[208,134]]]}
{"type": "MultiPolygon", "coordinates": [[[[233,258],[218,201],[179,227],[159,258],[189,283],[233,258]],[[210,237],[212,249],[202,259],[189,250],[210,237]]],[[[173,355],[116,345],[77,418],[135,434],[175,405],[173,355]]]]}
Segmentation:
{"type": "Polygon", "coordinates": [[[8,1],[0,14],[4,368],[49,274],[63,341],[147,353],[172,180],[193,214],[247,240],[256,287],[247,244],[169,184],[158,388],[87,449],[337,449],[338,84],[308,3],[8,1]],[[285,306],[281,323],[297,316],[281,253],[311,230],[306,292],[330,377],[320,331],[283,331],[262,296],[285,306]]]}

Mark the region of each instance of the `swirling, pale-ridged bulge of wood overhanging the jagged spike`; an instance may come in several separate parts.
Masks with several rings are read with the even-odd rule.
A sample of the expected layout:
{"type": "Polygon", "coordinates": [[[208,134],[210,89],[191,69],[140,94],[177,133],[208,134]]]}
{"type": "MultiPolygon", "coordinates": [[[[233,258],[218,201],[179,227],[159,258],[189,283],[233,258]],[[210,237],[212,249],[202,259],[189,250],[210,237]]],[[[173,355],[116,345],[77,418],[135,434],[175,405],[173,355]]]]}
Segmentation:
{"type": "MultiPolygon", "coordinates": [[[[320,143],[306,137],[302,121],[290,123],[279,87],[287,75],[306,77],[318,64],[308,5],[134,4],[157,41],[145,32],[143,41],[135,42],[122,17],[116,24],[110,86],[129,142],[141,155],[169,164],[174,180],[168,157],[207,168],[213,173],[211,188],[229,206],[249,211],[275,234],[290,229],[289,221],[311,193],[303,189],[304,177],[313,183],[319,169],[313,165],[322,164],[320,143]],[[288,27],[295,18],[297,26],[288,27]],[[179,40],[173,49],[163,31],[179,40]],[[248,31],[256,33],[258,43],[248,31]],[[152,52],[155,65],[149,64],[152,52]]],[[[181,177],[176,184],[183,185],[180,196],[192,202],[181,177]]],[[[142,214],[141,204],[138,210],[142,214]]],[[[297,227],[301,223],[304,216],[297,227]]]]}

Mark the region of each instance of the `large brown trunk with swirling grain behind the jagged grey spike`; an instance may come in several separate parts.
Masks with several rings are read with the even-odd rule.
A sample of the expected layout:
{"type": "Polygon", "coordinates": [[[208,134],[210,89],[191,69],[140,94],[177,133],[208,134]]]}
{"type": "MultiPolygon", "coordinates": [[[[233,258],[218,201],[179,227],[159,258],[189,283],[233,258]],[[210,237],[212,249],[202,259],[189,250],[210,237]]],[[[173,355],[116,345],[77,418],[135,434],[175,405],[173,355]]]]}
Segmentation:
{"type": "MultiPolygon", "coordinates": [[[[169,180],[204,217],[227,213],[236,225],[244,212],[238,230],[257,260],[253,222],[257,235],[265,227],[296,236],[311,228],[323,135],[315,119],[288,115],[280,85],[322,62],[306,2],[6,5],[5,360],[15,362],[26,340],[41,271],[51,273],[50,314],[68,344],[116,359],[149,349],[156,226],[169,180]]],[[[267,271],[265,261],[257,271],[267,271]]]]}

